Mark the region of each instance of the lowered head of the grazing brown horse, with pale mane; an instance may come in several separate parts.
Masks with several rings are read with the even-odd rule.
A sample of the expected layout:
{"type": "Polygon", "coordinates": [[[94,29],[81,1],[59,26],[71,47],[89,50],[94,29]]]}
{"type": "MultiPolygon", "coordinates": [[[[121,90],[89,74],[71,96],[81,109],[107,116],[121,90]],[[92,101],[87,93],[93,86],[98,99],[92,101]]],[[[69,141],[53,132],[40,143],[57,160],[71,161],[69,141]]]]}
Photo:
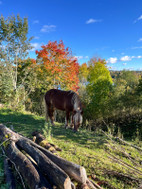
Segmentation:
{"type": "Polygon", "coordinates": [[[74,123],[74,131],[78,130],[78,127],[82,123],[83,120],[83,111],[80,108],[77,108],[73,111],[73,123],[74,123]]]}

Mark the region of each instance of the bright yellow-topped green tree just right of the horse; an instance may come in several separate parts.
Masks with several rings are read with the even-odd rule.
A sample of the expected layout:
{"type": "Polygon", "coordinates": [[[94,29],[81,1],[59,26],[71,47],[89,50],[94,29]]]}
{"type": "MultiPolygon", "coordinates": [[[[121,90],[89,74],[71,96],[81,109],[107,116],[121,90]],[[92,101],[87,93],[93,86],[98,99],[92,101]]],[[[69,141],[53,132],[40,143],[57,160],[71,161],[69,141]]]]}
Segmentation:
{"type": "Polygon", "coordinates": [[[88,74],[88,108],[92,118],[99,118],[109,113],[109,97],[112,89],[112,78],[105,60],[92,58],[89,61],[88,74]]]}

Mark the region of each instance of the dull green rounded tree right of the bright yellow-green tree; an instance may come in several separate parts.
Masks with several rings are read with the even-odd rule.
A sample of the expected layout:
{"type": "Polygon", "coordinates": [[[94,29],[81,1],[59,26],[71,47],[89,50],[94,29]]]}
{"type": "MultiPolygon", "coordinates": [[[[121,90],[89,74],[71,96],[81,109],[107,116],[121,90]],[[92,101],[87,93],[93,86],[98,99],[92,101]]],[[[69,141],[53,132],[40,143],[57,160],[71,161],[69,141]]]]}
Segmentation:
{"type": "Polygon", "coordinates": [[[114,80],[114,106],[120,112],[126,109],[136,108],[137,96],[135,90],[139,81],[139,75],[134,71],[123,70],[114,80]]]}

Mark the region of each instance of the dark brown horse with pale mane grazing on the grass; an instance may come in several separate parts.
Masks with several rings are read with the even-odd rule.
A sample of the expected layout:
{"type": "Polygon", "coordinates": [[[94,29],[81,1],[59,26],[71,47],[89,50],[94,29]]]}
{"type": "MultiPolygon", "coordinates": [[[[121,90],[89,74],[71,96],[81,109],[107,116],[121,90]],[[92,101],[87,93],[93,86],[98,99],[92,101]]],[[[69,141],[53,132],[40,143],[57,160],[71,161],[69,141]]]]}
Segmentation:
{"type": "Polygon", "coordinates": [[[68,128],[69,119],[71,116],[71,127],[74,126],[74,131],[78,130],[82,123],[82,103],[79,96],[73,91],[62,91],[59,89],[50,89],[45,94],[46,120],[48,116],[54,125],[55,109],[66,112],[65,128],[68,128]]]}

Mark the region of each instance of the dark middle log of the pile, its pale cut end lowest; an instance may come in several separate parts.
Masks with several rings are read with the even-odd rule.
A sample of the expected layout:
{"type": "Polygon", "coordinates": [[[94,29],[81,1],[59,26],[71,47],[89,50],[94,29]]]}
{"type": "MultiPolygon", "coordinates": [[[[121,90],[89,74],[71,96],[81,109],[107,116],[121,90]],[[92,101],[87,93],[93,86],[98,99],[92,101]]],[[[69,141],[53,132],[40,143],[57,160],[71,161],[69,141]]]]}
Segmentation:
{"type": "Polygon", "coordinates": [[[53,163],[39,149],[30,145],[24,138],[19,138],[16,142],[23,150],[25,150],[37,163],[40,170],[49,178],[50,182],[61,189],[71,189],[71,181],[68,175],[53,163]]]}

